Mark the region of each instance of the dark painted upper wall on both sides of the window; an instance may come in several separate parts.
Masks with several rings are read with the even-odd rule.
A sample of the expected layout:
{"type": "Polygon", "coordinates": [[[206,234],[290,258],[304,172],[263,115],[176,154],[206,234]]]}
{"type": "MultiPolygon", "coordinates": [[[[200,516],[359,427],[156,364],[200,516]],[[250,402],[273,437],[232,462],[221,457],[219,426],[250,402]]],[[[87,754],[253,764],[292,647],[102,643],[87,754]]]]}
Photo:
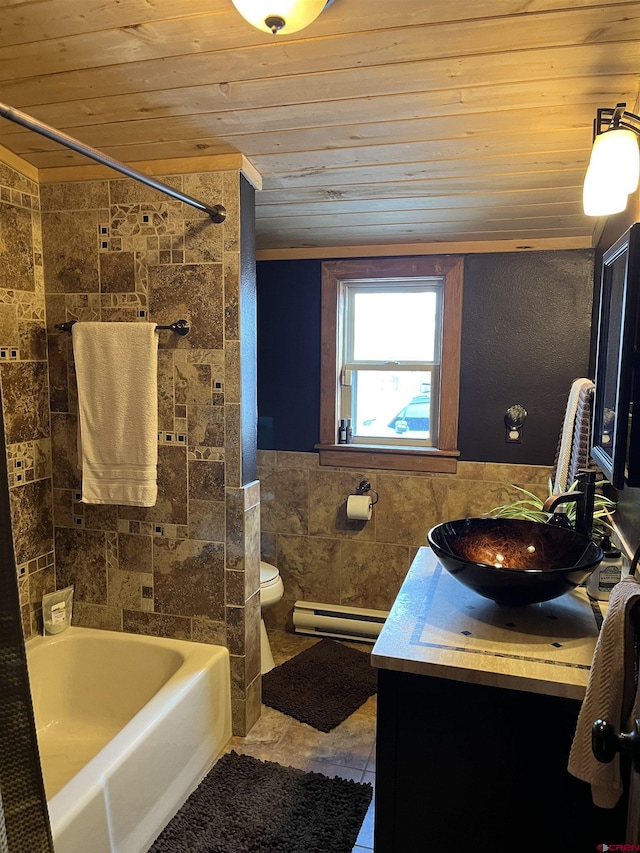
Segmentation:
{"type": "MultiPolygon", "coordinates": [[[[318,442],[321,264],[263,261],[258,276],[258,447],[318,442]]],[[[588,375],[593,252],[465,259],[459,448],[467,461],[551,465],[572,381],[588,375]],[[529,412],[520,445],[503,415],[529,412]]]]}

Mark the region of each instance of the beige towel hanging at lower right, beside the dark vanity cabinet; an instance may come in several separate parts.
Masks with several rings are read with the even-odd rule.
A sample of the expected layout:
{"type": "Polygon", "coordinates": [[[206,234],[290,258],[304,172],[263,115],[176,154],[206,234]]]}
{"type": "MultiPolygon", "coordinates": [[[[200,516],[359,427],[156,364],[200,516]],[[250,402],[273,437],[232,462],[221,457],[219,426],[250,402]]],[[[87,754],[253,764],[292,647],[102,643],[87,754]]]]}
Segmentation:
{"type": "Polygon", "coordinates": [[[596,720],[607,720],[619,732],[628,724],[625,717],[635,696],[635,628],[628,614],[639,598],[640,584],[633,578],[620,581],[611,592],[569,755],[569,773],[591,785],[593,802],[604,809],[614,808],[622,795],[620,756],[601,764],[591,749],[591,727],[596,720]]]}

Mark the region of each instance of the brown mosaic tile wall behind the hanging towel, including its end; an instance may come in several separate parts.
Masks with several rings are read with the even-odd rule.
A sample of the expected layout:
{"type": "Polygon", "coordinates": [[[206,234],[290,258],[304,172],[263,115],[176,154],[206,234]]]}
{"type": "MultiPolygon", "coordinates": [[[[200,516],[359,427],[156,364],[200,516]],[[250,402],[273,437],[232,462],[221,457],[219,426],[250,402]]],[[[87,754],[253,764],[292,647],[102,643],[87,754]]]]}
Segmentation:
{"type": "Polygon", "coordinates": [[[259,487],[242,484],[238,431],[241,176],[165,180],[222,202],[225,223],[131,180],[41,188],[56,580],[75,587],[76,624],[228,646],[241,734],[260,709],[259,487]],[[82,504],[71,336],[55,324],[181,318],[188,336],[158,333],[156,506],[82,504]]]}

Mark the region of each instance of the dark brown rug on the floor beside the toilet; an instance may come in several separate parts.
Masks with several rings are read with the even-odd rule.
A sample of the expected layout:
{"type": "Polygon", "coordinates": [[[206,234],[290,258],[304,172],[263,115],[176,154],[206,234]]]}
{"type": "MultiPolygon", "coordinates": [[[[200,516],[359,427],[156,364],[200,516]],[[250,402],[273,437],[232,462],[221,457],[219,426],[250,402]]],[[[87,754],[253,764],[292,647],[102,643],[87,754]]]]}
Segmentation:
{"type": "Polygon", "coordinates": [[[262,676],[262,701],[321,732],[330,732],[377,689],[369,652],[320,640],[262,676]]]}

